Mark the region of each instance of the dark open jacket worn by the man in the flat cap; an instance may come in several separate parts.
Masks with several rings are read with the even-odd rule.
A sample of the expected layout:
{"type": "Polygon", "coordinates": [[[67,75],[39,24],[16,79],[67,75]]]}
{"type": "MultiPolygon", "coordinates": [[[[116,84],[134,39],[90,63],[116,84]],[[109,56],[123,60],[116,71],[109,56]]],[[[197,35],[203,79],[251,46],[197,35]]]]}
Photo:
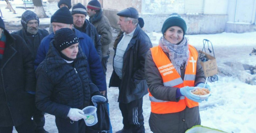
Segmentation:
{"type": "MultiPolygon", "coordinates": [[[[118,42],[122,38],[123,35],[120,36],[118,42]]],[[[144,64],[147,51],[151,47],[150,39],[138,25],[124,53],[122,80],[115,73],[115,70],[113,70],[110,78],[109,87],[120,87],[118,102],[129,103],[148,93],[144,64]]],[[[114,50],[116,54],[116,49],[114,48],[114,50]]]]}

